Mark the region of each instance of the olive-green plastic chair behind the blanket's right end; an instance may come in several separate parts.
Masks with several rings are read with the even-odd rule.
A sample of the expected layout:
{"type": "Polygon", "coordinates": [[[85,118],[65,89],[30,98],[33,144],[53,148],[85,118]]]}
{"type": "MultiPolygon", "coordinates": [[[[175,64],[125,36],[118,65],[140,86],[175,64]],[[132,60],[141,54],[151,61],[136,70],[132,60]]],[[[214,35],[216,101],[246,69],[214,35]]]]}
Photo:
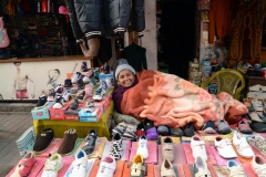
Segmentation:
{"type": "Polygon", "coordinates": [[[245,80],[238,71],[233,69],[221,70],[208,77],[207,81],[202,82],[201,87],[207,87],[214,79],[217,79],[217,94],[227,92],[235,100],[239,101],[241,91],[245,87],[245,80]]]}

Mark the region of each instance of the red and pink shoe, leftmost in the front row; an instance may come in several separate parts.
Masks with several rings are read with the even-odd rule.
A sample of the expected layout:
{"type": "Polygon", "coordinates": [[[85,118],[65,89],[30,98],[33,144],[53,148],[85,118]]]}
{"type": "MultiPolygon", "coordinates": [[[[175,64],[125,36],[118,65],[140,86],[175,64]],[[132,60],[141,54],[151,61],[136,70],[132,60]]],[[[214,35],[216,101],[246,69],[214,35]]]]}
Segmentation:
{"type": "Polygon", "coordinates": [[[27,153],[24,157],[19,160],[18,165],[14,168],[14,171],[10,177],[23,177],[28,176],[31,173],[31,168],[35,163],[35,156],[33,153],[27,153]]]}

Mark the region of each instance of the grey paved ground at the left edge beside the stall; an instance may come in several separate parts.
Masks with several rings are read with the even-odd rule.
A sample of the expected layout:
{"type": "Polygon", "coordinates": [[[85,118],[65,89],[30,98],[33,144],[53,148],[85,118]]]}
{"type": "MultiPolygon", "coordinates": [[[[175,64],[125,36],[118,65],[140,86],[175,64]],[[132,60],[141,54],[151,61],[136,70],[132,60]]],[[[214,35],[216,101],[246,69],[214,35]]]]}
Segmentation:
{"type": "MultiPolygon", "coordinates": [[[[0,104],[1,107],[4,107],[3,104],[0,104]]],[[[21,159],[16,140],[32,126],[31,113],[27,112],[25,107],[31,110],[28,104],[7,106],[6,112],[0,110],[0,177],[4,177],[21,159]],[[22,112],[10,112],[12,108],[22,112]],[[7,112],[8,110],[10,111],[7,112]]]]}

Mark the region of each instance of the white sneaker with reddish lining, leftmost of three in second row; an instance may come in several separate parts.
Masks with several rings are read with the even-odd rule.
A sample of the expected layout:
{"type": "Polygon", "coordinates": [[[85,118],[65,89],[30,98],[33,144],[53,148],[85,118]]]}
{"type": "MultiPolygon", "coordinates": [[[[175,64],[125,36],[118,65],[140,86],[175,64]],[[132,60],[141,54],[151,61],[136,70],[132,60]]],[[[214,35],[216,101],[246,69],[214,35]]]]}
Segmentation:
{"type": "Polygon", "coordinates": [[[205,148],[205,143],[200,136],[193,136],[191,140],[191,148],[193,152],[193,157],[196,159],[201,156],[205,162],[207,160],[207,153],[205,148]]]}

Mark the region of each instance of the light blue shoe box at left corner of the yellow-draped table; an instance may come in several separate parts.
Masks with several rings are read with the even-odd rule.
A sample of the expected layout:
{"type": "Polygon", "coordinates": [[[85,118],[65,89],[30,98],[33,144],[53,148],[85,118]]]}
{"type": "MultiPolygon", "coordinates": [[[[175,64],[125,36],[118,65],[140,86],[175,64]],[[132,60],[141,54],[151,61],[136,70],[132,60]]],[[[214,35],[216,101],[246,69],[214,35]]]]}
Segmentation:
{"type": "Polygon", "coordinates": [[[50,119],[49,108],[55,102],[47,102],[47,104],[44,106],[32,108],[31,110],[31,115],[32,115],[33,119],[50,119]]]}

